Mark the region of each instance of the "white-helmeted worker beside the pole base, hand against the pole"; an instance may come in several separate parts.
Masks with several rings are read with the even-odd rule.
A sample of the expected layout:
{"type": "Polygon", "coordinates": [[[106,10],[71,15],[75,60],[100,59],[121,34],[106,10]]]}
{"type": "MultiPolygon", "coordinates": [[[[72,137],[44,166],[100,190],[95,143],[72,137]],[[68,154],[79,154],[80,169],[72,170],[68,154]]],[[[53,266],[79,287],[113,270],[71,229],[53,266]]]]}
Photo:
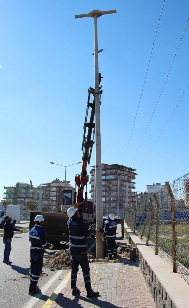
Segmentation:
{"type": "Polygon", "coordinates": [[[116,238],[116,230],[117,230],[117,223],[115,221],[115,215],[109,214],[108,221],[104,226],[104,233],[103,233],[103,241],[106,241],[108,257],[105,259],[112,260],[112,255],[114,258],[117,256],[117,248],[115,243],[116,238]]]}

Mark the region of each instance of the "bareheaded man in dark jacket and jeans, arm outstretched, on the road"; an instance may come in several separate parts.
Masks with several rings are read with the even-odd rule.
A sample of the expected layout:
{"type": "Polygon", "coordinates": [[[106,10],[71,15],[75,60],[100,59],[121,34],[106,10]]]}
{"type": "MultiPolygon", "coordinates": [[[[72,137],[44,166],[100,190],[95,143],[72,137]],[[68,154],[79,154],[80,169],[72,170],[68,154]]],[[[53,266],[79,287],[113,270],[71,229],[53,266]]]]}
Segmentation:
{"type": "Polygon", "coordinates": [[[5,221],[6,223],[4,224],[4,235],[3,235],[3,243],[5,244],[5,249],[4,249],[4,256],[3,256],[3,263],[6,264],[11,264],[12,262],[9,260],[10,256],[10,251],[11,251],[11,241],[12,238],[14,237],[14,231],[18,231],[23,233],[22,230],[14,228],[12,225],[11,217],[10,216],[5,216],[5,221]]]}

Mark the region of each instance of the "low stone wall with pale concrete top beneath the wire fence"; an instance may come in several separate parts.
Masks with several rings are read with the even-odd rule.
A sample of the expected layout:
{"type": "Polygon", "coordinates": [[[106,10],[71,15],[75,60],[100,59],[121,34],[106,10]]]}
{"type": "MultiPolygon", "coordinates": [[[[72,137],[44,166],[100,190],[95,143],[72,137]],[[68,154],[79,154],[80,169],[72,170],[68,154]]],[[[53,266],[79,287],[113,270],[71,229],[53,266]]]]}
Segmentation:
{"type": "Polygon", "coordinates": [[[155,251],[146,246],[126,225],[130,242],[137,248],[139,266],[149,285],[154,301],[159,308],[187,308],[189,285],[178,274],[173,273],[172,265],[155,255],[155,251]]]}

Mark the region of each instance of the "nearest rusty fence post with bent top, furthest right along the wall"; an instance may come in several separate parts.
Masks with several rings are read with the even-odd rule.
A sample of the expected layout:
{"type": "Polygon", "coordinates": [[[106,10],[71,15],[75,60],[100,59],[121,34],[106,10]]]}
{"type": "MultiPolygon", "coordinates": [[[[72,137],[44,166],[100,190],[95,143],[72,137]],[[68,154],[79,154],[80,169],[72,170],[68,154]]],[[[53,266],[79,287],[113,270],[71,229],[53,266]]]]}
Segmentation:
{"type": "Polygon", "coordinates": [[[173,250],[173,273],[177,272],[176,264],[176,230],[175,230],[175,197],[169,182],[165,182],[171,198],[171,229],[172,229],[172,250],[173,250]]]}

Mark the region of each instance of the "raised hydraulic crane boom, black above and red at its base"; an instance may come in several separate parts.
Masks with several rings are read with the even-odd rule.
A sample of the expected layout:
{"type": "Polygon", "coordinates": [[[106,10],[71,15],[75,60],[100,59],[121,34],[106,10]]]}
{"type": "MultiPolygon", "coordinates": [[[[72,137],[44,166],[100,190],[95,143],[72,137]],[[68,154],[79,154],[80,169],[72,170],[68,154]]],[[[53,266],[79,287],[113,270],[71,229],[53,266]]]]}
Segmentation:
{"type": "MultiPolygon", "coordinates": [[[[101,81],[101,74],[99,74],[99,82],[101,81]]],[[[100,90],[100,99],[103,91],[100,90]]],[[[83,140],[82,140],[82,151],[83,151],[83,157],[82,157],[82,169],[81,173],[77,176],[75,176],[75,182],[78,186],[78,193],[77,197],[74,196],[74,202],[77,203],[83,203],[83,191],[84,187],[87,184],[89,177],[87,175],[86,167],[87,164],[90,163],[90,157],[92,153],[92,148],[94,144],[94,132],[95,132],[95,123],[94,123],[94,115],[95,115],[95,105],[94,105],[94,89],[92,87],[89,87],[88,89],[88,99],[87,99],[87,106],[86,106],[86,115],[85,115],[85,122],[84,122],[84,132],[83,132],[83,140]],[[90,95],[93,95],[93,102],[90,103],[90,95]],[[89,111],[91,108],[91,112],[89,111]],[[89,122],[87,122],[88,114],[90,112],[90,119],[89,122]],[[93,135],[93,136],[92,136],[93,135]],[[92,140],[91,140],[92,137],[92,140]]],[[[87,208],[87,192],[85,193],[85,209],[87,208]]]]}

